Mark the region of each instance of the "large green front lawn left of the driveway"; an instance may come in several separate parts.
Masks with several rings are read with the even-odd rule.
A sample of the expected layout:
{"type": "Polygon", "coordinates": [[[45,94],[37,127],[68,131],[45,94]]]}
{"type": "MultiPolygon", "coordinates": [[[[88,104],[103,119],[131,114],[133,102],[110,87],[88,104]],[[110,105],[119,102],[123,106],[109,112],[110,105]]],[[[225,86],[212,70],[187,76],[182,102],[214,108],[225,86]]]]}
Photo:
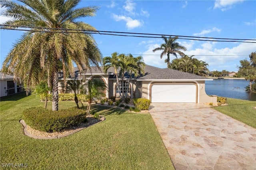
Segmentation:
{"type": "MultiPolygon", "coordinates": [[[[92,109],[104,115],[105,121],[65,138],[43,140],[25,136],[19,123],[22,111],[36,106],[43,107],[44,103],[35,95],[19,93],[1,98],[0,166],[27,163],[27,169],[32,170],[174,169],[148,113],[94,105],[92,109]]],[[[59,109],[75,106],[72,101],[59,102],[59,109]]]]}

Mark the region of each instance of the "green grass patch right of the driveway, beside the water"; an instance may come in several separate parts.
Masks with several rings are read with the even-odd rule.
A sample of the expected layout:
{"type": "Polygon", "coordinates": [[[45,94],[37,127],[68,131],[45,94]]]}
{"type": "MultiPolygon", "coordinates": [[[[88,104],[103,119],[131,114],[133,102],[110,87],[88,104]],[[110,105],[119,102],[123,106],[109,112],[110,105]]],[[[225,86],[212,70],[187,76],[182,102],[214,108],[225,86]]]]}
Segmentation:
{"type": "Polygon", "coordinates": [[[227,106],[212,107],[238,121],[256,128],[256,106],[255,101],[227,98],[227,106]]]}

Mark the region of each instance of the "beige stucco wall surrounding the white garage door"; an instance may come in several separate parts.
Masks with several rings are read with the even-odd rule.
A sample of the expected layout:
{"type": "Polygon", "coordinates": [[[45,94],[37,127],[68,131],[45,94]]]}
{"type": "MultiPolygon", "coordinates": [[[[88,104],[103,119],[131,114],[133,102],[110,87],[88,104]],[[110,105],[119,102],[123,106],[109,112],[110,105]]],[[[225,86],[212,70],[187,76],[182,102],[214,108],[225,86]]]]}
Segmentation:
{"type": "MultiPolygon", "coordinates": [[[[153,83],[172,83],[172,82],[151,82],[151,81],[142,81],[142,97],[144,99],[150,99],[151,100],[151,87],[153,85],[153,83]],[[150,84],[150,85],[149,85],[150,84]]],[[[196,96],[196,103],[216,103],[217,102],[217,98],[215,96],[210,97],[206,94],[205,92],[205,81],[191,81],[191,82],[178,82],[176,81],[175,84],[177,85],[182,85],[182,84],[188,84],[188,83],[194,83],[196,85],[196,89],[197,89],[197,93],[195,95],[196,96]]]]}

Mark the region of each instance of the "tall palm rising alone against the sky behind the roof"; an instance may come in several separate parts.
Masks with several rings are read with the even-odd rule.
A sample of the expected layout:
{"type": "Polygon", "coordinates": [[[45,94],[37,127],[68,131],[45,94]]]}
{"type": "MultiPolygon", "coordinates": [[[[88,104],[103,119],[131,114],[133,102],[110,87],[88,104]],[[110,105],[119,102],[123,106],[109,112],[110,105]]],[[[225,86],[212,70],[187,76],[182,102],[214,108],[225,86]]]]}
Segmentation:
{"type": "Polygon", "coordinates": [[[177,58],[177,54],[179,55],[185,55],[182,51],[186,51],[186,47],[180,45],[178,42],[176,42],[176,40],[178,40],[178,37],[169,37],[166,38],[165,36],[162,36],[162,38],[164,39],[164,43],[162,43],[160,45],[160,47],[157,47],[155,49],[153,49],[153,52],[155,51],[162,51],[160,58],[162,59],[163,55],[167,54],[167,66],[170,64],[170,54],[174,55],[177,58]]]}

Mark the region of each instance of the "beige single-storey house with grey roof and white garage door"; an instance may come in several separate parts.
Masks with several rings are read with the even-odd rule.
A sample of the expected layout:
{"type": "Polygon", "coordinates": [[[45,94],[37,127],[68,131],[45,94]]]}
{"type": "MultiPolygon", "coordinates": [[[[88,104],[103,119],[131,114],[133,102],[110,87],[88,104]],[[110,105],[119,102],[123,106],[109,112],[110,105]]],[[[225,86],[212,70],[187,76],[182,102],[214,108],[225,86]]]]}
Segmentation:
{"type": "MultiPolygon", "coordinates": [[[[106,97],[115,96],[120,97],[116,83],[116,76],[114,69],[110,68],[107,73],[104,73],[103,67],[96,69],[92,67],[91,71],[87,71],[84,76],[86,79],[100,78],[108,89],[105,91],[106,97]]],[[[205,81],[208,79],[199,75],[185,73],[182,71],[158,68],[146,65],[145,75],[134,77],[132,75],[130,83],[128,84],[128,74],[125,75],[124,87],[122,87],[122,80],[120,81],[121,93],[128,91],[130,98],[144,98],[149,99],[152,103],[216,103],[217,97],[209,97],[205,92],[205,81]]],[[[80,79],[79,71],[75,71],[75,79],[80,79]]],[[[70,78],[70,79],[74,79],[70,78]]],[[[59,78],[59,88],[64,79],[59,78]]]]}

